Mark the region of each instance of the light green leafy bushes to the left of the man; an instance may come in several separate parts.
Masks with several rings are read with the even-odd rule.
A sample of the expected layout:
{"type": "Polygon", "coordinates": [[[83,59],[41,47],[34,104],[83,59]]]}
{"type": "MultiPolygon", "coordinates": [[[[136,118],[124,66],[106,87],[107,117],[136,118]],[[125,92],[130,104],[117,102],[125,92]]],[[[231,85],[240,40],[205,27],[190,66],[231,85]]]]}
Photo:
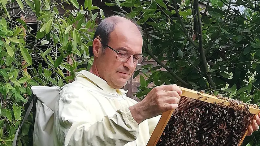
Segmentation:
{"type": "MultiPolygon", "coordinates": [[[[0,5],[0,146],[10,146],[28,106],[25,103],[32,94],[31,86],[63,86],[76,71],[91,67],[89,46],[94,32],[90,30],[97,26],[96,18],[105,16],[102,9],[93,14],[92,10],[99,8],[91,0],[85,0],[85,9],[76,0],[1,0],[0,5]],[[76,9],[64,9],[65,2],[76,9]],[[59,14],[58,6],[64,15],[59,14]],[[34,16],[38,28],[33,30],[22,18],[14,19],[13,9],[34,16]],[[64,74],[67,72],[70,76],[64,74]]],[[[32,132],[31,113],[18,145],[29,145],[32,132]]]]}

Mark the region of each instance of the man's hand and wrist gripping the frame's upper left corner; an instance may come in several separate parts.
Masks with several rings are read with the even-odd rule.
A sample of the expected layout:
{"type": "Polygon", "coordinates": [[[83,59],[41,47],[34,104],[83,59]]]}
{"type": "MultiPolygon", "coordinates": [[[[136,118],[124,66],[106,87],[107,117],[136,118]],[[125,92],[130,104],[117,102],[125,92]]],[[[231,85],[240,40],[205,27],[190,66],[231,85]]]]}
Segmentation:
{"type": "Polygon", "coordinates": [[[129,110],[135,121],[140,124],[145,119],[176,109],[181,94],[182,91],[176,84],[157,86],[141,102],[129,107],[129,110]]]}

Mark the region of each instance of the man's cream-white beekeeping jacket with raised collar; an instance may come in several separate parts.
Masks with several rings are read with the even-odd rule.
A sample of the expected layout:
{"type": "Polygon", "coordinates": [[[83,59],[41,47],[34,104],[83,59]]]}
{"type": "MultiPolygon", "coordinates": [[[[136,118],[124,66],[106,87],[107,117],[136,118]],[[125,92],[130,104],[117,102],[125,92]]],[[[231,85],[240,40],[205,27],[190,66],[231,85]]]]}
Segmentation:
{"type": "Polygon", "coordinates": [[[44,141],[45,137],[40,138],[39,134],[34,134],[36,137],[34,145],[38,143],[41,146],[145,146],[147,144],[160,116],[145,120],[138,125],[128,109],[137,101],[126,97],[127,91],[111,88],[105,80],[88,71],[80,71],[75,76],[75,81],[65,85],[58,98],[55,96],[57,92],[49,94],[50,100],[56,101],[54,113],[48,109],[43,110],[46,113],[40,112],[41,117],[47,116],[36,129],[38,133],[44,130],[45,133],[50,132],[50,125],[47,129],[42,127],[46,123],[51,123],[51,117],[54,116],[51,128],[53,133],[49,133],[53,138],[46,136],[44,141]]]}

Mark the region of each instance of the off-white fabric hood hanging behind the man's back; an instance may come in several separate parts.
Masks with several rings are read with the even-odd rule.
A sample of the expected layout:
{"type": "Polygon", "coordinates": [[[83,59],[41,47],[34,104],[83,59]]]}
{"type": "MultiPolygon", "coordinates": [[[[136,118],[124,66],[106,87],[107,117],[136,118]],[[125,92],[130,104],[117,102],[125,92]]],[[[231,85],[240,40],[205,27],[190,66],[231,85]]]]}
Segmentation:
{"type": "Polygon", "coordinates": [[[36,115],[33,130],[34,146],[54,146],[53,122],[55,101],[59,98],[58,86],[32,86],[32,92],[37,96],[36,115]]]}

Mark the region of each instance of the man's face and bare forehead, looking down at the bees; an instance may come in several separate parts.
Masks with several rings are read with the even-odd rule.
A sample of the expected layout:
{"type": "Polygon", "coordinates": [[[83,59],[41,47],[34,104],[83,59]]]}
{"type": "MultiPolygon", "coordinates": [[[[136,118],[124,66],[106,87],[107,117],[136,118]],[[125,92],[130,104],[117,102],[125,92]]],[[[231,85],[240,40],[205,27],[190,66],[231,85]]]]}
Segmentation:
{"type": "MultiPolygon", "coordinates": [[[[117,51],[124,50],[131,54],[141,54],[142,43],[142,36],[137,27],[129,22],[121,22],[110,34],[110,41],[107,45],[117,51]]],[[[98,73],[113,88],[122,88],[132,76],[136,64],[132,56],[126,62],[119,61],[116,57],[117,53],[106,47],[104,54],[98,57],[98,73]]]]}

